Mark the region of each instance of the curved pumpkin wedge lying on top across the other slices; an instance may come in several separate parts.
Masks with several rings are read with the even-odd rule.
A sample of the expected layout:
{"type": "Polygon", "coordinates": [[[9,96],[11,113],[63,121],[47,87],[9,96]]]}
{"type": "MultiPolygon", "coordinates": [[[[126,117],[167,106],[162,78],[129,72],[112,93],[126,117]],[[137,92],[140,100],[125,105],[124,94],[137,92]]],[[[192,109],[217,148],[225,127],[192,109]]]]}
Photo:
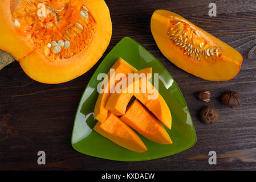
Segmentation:
{"type": "MultiPolygon", "coordinates": [[[[122,88],[120,89],[120,92],[115,92],[111,94],[111,96],[107,101],[106,108],[109,111],[111,111],[113,114],[123,115],[126,111],[129,101],[133,96],[135,86],[140,84],[140,82],[145,82],[145,79],[151,78],[151,73],[152,73],[152,68],[141,69],[140,71],[134,73],[136,75],[141,76],[139,79],[137,80],[133,79],[134,75],[131,74],[128,77],[126,77],[124,80],[120,81],[126,84],[126,86],[122,86],[122,88]]],[[[119,87],[120,82],[117,83],[116,90],[117,90],[117,87],[119,87]]]]}

